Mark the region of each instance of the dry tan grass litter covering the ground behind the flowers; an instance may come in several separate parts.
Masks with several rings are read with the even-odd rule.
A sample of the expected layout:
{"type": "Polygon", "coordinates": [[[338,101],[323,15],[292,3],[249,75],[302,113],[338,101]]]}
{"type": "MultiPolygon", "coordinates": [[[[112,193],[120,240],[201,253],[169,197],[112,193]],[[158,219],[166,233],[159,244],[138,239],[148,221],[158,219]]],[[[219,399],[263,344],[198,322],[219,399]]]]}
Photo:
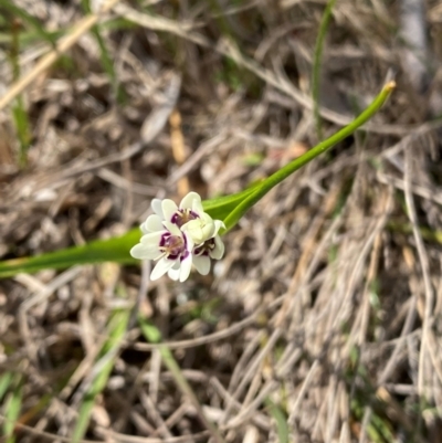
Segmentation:
{"type": "MultiPolygon", "coordinates": [[[[96,15],[110,71],[78,2],[14,3],[71,40],[60,57],[48,41],[24,39],[33,30],[22,23],[18,63],[30,84],[13,89],[3,39],[3,259],[123,233],[155,196],[239,191],[317,143],[311,77],[324,1],[117,2],[96,15]],[[77,34],[66,31],[73,23],[77,34]],[[23,167],[6,103],[17,93],[32,131],[23,167]]],[[[291,442],[440,442],[438,3],[427,1],[413,71],[399,1],[337,1],[323,57],[325,135],[391,72],[398,88],[364,133],[225,236],[213,275],[150,283],[147,264],[107,263],[0,282],[0,371],[17,376],[22,398],[17,442],[71,441],[118,306],[138,306],[161,330],[225,442],[283,442],[285,426],[291,442]]],[[[2,35],[13,32],[2,23],[2,35]]],[[[3,419],[7,409],[4,400],[3,419]]],[[[87,440],[210,435],[158,346],[129,321],[87,440]]]]}

